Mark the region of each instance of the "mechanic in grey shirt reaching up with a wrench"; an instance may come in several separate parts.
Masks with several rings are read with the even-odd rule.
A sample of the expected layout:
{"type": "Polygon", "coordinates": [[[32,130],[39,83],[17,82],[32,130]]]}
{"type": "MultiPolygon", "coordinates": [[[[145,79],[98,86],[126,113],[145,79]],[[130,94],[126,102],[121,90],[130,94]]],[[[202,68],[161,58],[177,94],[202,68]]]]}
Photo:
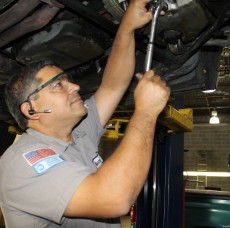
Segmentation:
{"type": "Polygon", "coordinates": [[[49,61],[28,65],[8,83],[7,105],[26,132],[0,160],[6,227],[120,227],[146,180],[170,93],[152,70],[138,74],[125,136],[103,162],[98,143],[134,74],[134,31],[152,18],[146,3],[130,2],[101,85],[85,102],[80,86],[49,61]]]}

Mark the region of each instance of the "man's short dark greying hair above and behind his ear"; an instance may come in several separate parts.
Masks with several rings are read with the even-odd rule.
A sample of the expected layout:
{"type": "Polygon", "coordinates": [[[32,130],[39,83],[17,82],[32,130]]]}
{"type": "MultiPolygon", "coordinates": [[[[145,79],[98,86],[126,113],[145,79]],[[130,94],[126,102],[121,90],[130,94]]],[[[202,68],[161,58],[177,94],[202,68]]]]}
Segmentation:
{"type": "Polygon", "coordinates": [[[6,105],[22,130],[27,129],[28,119],[21,112],[20,106],[26,101],[27,96],[39,85],[40,81],[36,77],[39,70],[43,67],[53,65],[57,66],[52,61],[37,61],[30,63],[18,72],[9,80],[5,87],[6,105]]]}

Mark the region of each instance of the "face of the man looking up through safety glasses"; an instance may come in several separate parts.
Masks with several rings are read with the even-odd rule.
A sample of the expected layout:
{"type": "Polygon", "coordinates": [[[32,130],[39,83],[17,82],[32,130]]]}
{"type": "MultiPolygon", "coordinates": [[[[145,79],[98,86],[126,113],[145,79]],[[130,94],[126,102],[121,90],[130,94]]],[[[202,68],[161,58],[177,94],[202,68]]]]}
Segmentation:
{"type": "MultiPolygon", "coordinates": [[[[62,70],[55,66],[42,68],[37,74],[37,78],[41,80],[39,86],[61,72],[62,70]]],[[[38,99],[32,100],[33,108],[35,111],[51,109],[51,113],[41,115],[41,118],[46,118],[50,123],[62,121],[65,125],[74,126],[86,115],[87,109],[78,94],[79,85],[69,82],[65,76],[65,74],[61,75],[38,91],[38,99]]]]}

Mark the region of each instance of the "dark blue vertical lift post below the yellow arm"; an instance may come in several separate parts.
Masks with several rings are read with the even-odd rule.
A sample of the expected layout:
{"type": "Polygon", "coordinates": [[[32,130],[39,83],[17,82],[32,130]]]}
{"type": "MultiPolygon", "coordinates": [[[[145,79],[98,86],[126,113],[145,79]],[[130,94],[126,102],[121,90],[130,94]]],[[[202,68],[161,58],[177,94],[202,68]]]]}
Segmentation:
{"type": "Polygon", "coordinates": [[[182,228],[184,134],[167,134],[158,143],[155,227],[182,228]]]}

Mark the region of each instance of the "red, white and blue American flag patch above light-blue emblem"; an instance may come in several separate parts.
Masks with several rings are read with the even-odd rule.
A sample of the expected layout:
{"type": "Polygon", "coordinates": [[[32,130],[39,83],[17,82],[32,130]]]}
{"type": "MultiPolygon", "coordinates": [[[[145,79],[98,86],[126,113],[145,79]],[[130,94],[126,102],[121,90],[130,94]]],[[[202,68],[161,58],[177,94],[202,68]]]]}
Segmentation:
{"type": "Polygon", "coordinates": [[[55,155],[58,155],[55,151],[45,148],[26,152],[23,154],[23,157],[26,159],[29,165],[33,166],[38,161],[55,155]]]}

